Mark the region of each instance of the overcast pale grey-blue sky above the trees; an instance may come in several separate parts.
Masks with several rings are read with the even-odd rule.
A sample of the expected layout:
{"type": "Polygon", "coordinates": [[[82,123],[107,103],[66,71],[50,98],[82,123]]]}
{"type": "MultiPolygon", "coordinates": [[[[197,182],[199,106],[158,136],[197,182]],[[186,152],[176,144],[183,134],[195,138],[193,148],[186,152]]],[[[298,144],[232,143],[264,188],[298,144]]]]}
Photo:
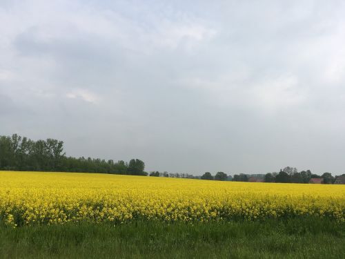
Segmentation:
{"type": "Polygon", "coordinates": [[[345,173],[344,1],[0,0],[0,135],[146,171],[345,173]]]}

